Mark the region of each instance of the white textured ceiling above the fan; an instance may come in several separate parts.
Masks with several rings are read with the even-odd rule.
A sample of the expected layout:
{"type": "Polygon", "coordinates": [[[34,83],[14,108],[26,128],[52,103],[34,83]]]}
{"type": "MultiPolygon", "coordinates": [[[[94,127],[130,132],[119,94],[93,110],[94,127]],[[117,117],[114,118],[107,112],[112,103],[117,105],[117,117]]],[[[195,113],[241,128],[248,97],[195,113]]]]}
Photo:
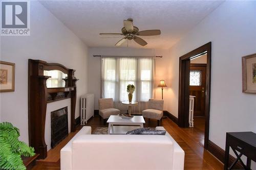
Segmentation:
{"type": "MultiPolygon", "coordinates": [[[[133,18],[139,30],[160,29],[159,36],[141,36],[147,45],[133,40],[129,47],[169,48],[223,1],[40,1],[89,47],[114,47],[122,36],[123,19],[133,18]]],[[[121,47],[127,46],[127,43],[121,47]]]]}

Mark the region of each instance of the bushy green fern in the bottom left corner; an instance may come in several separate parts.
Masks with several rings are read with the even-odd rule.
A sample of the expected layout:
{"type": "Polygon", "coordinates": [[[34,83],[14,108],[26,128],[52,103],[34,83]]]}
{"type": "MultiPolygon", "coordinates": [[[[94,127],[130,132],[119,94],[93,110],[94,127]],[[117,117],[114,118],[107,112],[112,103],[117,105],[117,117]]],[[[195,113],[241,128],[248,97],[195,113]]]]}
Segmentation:
{"type": "Polygon", "coordinates": [[[21,156],[34,156],[34,148],[18,140],[19,129],[0,123],[0,169],[26,169],[21,156]]]}

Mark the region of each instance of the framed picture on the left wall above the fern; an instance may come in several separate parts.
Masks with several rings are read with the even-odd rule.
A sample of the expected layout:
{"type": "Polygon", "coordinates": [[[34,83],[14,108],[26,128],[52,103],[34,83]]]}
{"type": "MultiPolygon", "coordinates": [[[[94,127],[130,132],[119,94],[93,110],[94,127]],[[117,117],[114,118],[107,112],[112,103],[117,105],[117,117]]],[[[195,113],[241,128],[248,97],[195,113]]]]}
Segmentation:
{"type": "Polygon", "coordinates": [[[14,91],[15,63],[0,61],[0,92],[14,91]]]}

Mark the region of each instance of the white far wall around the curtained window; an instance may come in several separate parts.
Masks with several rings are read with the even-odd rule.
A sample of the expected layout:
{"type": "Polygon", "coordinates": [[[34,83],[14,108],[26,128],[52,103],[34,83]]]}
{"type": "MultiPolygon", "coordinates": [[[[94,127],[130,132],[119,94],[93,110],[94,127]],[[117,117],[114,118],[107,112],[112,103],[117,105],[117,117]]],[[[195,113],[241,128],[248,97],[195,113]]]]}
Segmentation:
{"type": "MultiPolygon", "coordinates": [[[[106,56],[158,56],[163,55],[163,58],[156,58],[155,68],[156,76],[155,82],[159,83],[162,79],[162,71],[167,71],[167,68],[160,68],[160,64],[165,59],[168,54],[168,50],[155,50],[155,49],[143,49],[143,48],[89,48],[89,59],[88,59],[88,92],[95,94],[95,109],[98,109],[98,99],[100,98],[100,57],[93,57],[93,55],[106,55],[106,56]],[[159,71],[158,71],[159,70],[159,71]]],[[[161,99],[160,88],[157,88],[157,83],[155,84],[155,96],[161,99]]]]}

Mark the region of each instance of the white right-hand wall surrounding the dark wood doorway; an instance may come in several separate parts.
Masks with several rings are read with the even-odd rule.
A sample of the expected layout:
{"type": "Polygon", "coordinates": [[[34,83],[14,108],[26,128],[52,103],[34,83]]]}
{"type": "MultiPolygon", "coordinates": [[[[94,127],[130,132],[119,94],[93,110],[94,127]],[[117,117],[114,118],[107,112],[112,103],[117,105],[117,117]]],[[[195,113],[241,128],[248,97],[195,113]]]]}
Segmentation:
{"type": "Polygon", "coordinates": [[[226,1],[169,50],[168,111],[178,117],[179,57],[211,41],[209,139],[225,149],[226,132],[256,132],[256,95],[242,93],[242,56],[256,53],[256,2],[226,1]]]}

